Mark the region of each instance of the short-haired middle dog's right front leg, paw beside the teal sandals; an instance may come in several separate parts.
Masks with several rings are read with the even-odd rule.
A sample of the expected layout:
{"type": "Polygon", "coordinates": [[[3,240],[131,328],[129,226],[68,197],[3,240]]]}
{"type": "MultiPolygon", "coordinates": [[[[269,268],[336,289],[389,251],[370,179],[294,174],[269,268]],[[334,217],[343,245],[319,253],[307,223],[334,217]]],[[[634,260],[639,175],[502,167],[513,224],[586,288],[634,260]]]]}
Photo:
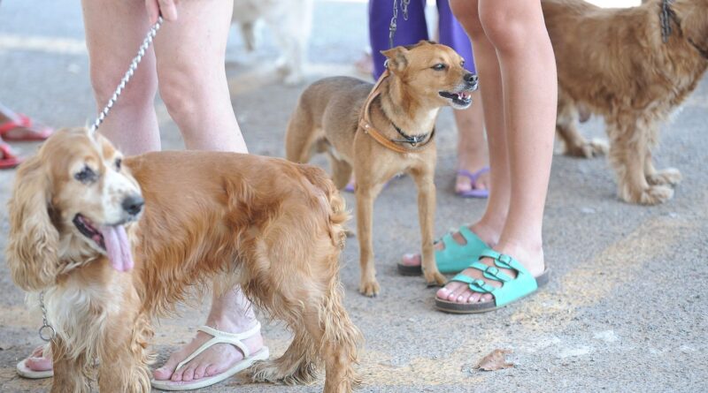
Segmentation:
{"type": "Polygon", "coordinates": [[[447,280],[440,274],[435,263],[435,169],[413,170],[413,180],[418,187],[418,220],[420,223],[420,238],[422,253],[420,267],[428,285],[444,285],[447,280]]]}

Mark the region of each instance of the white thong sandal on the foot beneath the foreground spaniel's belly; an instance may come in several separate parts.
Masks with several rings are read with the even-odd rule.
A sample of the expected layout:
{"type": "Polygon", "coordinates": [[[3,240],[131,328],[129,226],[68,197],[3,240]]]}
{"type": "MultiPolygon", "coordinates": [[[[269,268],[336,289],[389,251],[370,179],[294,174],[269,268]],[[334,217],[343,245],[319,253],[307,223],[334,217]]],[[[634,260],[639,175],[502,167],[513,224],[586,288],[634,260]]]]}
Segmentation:
{"type": "Polygon", "coordinates": [[[180,367],[189,363],[190,360],[195,359],[196,356],[211,348],[214,344],[234,345],[239,351],[243,353],[243,359],[237,362],[231,368],[224,371],[223,373],[208,376],[205,378],[200,378],[196,381],[174,382],[170,380],[156,380],[153,378],[150,380],[150,383],[152,384],[153,388],[162,390],[193,390],[205,388],[207,386],[212,386],[215,383],[224,381],[228,377],[231,377],[234,374],[239,373],[248,367],[251,367],[253,363],[258,360],[268,359],[268,347],[264,346],[256,353],[251,354],[248,347],[241,341],[245,338],[256,335],[258,331],[260,331],[260,322],[257,322],[256,326],[254,326],[252,329],[249,329],[242,333],[227,333],[225,331],[213,329],[208,326],[202,326],[197,330],[203,331],[204,333],[211,335],[212,339],[202,344],[202,346],[200,346],[196,351],[192,352],[192,354],[189,355],[187,359],[182,360],[180,364],[178,364],[177,367],[174,368],[175,370],[180,369],[180,367]]]}

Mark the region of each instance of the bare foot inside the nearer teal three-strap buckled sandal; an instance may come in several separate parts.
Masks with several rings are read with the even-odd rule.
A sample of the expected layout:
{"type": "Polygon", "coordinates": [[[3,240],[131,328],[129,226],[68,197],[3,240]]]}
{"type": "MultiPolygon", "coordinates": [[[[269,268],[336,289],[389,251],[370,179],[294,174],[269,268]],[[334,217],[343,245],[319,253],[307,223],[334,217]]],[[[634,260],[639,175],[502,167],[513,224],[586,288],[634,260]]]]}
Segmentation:
{"type": "MultiPolygon", "coordinates": [[[[505,253],[507,255],[512,255],[514,259],[519,261],[525,268],[529,271],[532,276],[541,276],[544,270],[543,263],[543,249],[541,247],[528,247],[524,248],[521,246],[514,245],[498,245],[495,247],[496,252],[505,253]],[[533,251],[528,251],[532,250],[533,251]]],[[[495,266],[494,261],[489,258],[483,258],[480,260],[488,266],[495,266]]],[[[516,277],[516,272],[514,270],[509,270],[505,268],[500,268],[506,275],[511,277],[516,277]]],[[[494,280],[489,280],[482,275],[482,272],[475,268],[467,268],[462,272],[463,275],[472,277],[473,279],[484,280],[485,283],[489,285],[499,287],[501,283],[494,280]]],[[[450,282],[443,288],[437,291],[435,296],[438,299],[447,300],[455,303],[482,303],[491,301],[493,296],[489,293],[479,293],[470,290],[469,285],[466,283],[450,282]]]]}

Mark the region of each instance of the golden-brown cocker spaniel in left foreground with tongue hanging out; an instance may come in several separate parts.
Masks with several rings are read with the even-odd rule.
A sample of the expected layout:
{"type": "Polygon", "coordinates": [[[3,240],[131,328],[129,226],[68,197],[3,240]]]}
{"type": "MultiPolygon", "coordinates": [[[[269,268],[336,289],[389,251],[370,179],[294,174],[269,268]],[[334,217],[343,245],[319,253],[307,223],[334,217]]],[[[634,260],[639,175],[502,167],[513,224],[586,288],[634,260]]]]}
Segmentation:
{"type": "Polygon", "coordinates": [[[123,160],[100,135],[64,130],[20,166],[9,209],[12,279],[45,291],[57,330],[54,392],[89,391],[96,358],[101,391],[150,391],[150,321],[209,283],[240,284],[295,333],[257,379],[309,382],[324,362],[325,391],[357,382],[360,333],[338,279],[347,215],[322,170],[217,152],[123,160]]]}

